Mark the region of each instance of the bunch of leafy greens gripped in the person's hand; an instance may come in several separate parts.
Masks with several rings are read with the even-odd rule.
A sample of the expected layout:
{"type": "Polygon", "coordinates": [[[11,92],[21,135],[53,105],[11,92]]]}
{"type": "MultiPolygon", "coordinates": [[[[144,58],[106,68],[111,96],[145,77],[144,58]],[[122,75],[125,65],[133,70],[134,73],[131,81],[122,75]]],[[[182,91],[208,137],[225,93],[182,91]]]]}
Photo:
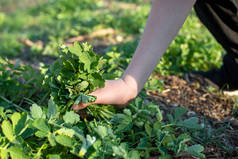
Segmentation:
{"type": "MultiPolygon", "coordinates": [[[[94,102],[96,97],[88,93],[104,87],[103,59],[96,55],[87,43],[74,43],[70,47],[62,46],[59,54],[59,59],[49,68],[45,80],[50,87],[51,99],[66,109],[72,105],[94,102]]],[[[99,108],[94,105],[88,109],[90,108],[102,110],[105,107],[99,108]]]]}

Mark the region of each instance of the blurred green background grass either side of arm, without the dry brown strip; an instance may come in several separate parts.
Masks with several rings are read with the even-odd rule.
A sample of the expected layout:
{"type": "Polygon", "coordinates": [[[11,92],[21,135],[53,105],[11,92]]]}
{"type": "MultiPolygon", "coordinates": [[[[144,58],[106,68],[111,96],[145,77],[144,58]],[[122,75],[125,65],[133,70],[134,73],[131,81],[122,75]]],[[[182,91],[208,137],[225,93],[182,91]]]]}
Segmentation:
{"type": "MultiPolygon", "coordinates": [[[[123,39],[133,36],[138,41],[146,23],[150,2],[127,2],[137,6],[135,10],[123,9],[123,5],[120,5],[122,3],[125,4],[116,1],[110,7],[104,1],[53,0],[16,9],[12,13],[0,12],[0,55],[21,58],[26,51],[26,46],[17,40],[21,37],[33,42],[41,40],[44,43],[42,49],[27,49],[30,56],[57,56],[57,47],[65,40],[91,34],[100,28],[113,28],[123,39]]],[[[12,3],[5,1],[2,4],[8,8],[12,3]]],[[[108,50],[113,47],[114,50],[119,50],[119,53],[126,54],[123,56],[130,58],[136,46],[137,42],[133,42],[133,46],[128,50],[128,44],[121,43],[110,46],[108,50]]],[[[155,71],[166,75],[208,70],[219,67],[223,55],[222,47],[192,11],[155,71]]],[[[126,66],[127,63],[122,65],[126,66]]]]}

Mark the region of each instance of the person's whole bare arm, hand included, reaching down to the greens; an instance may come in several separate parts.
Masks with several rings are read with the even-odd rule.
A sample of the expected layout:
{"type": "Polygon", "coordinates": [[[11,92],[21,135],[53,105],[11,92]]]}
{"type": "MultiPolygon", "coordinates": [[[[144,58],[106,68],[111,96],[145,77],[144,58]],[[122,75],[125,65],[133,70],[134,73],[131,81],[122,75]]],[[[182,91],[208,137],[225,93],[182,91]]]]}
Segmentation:
{"type": "MultiPolygon", "coordinates": [[[[195,0],[154,0],[141,41],[118,80],[92,93],[97,104],[126,104],[135,98],[188,16],[195,0]]],[[[82,109],[87,105],[74,106],[82,109]]]]}

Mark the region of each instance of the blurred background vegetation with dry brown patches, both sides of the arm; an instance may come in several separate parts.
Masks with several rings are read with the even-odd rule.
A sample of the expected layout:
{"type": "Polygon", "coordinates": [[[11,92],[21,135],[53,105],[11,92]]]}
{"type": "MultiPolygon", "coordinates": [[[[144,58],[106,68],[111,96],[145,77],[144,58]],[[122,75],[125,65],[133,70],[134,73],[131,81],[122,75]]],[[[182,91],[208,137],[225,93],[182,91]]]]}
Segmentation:
{"type": "MultiPolygon", "coordinates": [[[[107,59],[111,78],[118,77],[136,49],[150,7],[151,0],[0,0],[0,56],[39,67],[57,58],[60,44],[87,41],[107,59]]],[[[192,11],[155,73],[208,70],[219,67],[223,55],[192,11]]]]}

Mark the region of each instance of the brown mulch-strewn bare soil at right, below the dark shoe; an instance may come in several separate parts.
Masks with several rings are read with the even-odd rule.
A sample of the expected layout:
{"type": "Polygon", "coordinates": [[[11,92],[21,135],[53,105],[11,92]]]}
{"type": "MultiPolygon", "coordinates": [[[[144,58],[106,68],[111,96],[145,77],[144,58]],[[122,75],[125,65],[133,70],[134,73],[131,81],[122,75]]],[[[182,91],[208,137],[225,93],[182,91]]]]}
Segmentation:
{"type": "MultiPolygon", "coordinates": [[[[209,84],[204,81],[204,83],[191,81],[177,76],[156,76],[156,78],[164,81],[164,90],[150,91],[148,95],[163,111],[170,112],[175,107],[184,106],[188,109],[187,117],[198,117],[201,121],[205,121],[212,131],[225,128],[221,133],[211,137],[211,140],[218,141],[220,145],[215,143],[204,145],[206,158],[238,158],[238,121],[233,115],[233,97],[219,91],[209,91],[209,84]]],[[[180,158],[187,159],[191,156],[180,158]]]]}

